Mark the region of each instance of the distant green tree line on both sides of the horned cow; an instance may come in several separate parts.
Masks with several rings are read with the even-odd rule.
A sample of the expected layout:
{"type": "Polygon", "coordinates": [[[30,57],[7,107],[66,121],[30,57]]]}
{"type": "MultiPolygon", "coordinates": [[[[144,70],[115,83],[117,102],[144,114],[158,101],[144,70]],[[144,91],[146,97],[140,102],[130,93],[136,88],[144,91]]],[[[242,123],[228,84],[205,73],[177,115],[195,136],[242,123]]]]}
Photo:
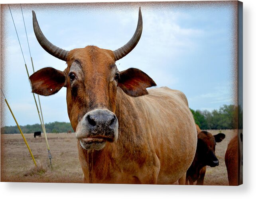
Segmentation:
{"type": "MultiPolygon", "coordinates": [[[[242,108],[234,105],[223,105],[219,110],[193,110],[190,109],[195,123],[201,129],[242,129],[242,108]]],[[[41,124],[20,126],[23,133],[41,131],[41,124]]],[[[47,133],[74,132],[70,122],[50,122],[45,124],[47,133]]],[[[1,128],[1,134],[20,133],[17,126],[5,126],[1,128]]]]}

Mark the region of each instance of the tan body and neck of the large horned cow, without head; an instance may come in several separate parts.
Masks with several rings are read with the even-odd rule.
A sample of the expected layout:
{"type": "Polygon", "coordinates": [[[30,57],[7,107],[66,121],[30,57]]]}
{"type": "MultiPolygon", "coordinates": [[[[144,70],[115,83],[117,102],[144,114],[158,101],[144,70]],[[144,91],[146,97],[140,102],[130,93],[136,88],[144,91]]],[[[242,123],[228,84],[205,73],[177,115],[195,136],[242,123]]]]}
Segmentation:
{"type": "MultiPolygon", "coordinates": [[[[183,176],[197,143],[183,93],[162,87],[134,98],[118,89],[115,114],[118,140],[94,151],[93,182],[173,184],[183,176]]],[[[81,147],[79,160],[88,182],[87,151],[81,147]]]]}

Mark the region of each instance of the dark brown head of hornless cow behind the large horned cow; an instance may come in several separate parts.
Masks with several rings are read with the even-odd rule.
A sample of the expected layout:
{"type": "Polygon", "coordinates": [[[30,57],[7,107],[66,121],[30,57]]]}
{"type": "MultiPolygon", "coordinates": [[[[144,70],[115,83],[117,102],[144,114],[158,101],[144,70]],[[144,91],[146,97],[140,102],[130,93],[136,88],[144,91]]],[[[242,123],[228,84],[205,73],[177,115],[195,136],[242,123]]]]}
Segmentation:
{"type": "Polygon", "coordinates": [[[221,142],[225,134],[212,135],[207,131],[201,131],[197,135],[197,154],[204,165],[215,167],[219,165],[219,160],[215,155],[215,146],[221,142]]]}

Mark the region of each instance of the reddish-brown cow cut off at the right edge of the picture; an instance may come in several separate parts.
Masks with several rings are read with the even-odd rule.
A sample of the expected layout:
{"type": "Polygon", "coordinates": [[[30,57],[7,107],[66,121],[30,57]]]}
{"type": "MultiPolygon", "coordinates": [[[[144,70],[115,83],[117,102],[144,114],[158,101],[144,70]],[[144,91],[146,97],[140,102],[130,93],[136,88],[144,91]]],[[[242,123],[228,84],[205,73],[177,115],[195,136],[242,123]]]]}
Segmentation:
{"type": "Polygon", "coordinates": [[[238,135],[233,137],[228,143],[228,148],[225,153],[225,164],[228,172],[229,185],[236,186],[243,183],[242,171],[242,141],[243,134],[239,132],[238,135]]]}

